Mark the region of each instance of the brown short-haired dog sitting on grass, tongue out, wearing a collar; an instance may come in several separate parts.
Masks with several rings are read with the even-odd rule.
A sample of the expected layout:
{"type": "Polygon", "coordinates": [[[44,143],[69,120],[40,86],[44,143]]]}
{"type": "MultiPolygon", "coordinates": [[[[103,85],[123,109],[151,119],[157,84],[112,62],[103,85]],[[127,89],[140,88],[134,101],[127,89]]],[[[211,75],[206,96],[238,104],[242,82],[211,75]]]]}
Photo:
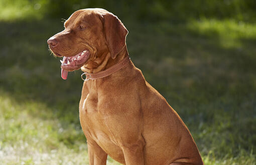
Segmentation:
{"type": "Polygon", "coordinates": [[[129,60],[128,31],[116,16],[79,10],[64,26],[47,42],[63,56],[63,79],[80,68],[88,73],[79,113],[90,165],[106,164],[107,155],[126,165],[203,164],[179,115],[129,60]]]}

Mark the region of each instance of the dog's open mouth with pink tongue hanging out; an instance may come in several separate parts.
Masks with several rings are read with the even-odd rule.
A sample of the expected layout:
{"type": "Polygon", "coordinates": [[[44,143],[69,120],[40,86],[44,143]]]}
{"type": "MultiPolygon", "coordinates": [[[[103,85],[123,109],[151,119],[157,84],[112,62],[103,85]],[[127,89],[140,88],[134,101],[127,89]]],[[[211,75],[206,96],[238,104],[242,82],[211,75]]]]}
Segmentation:
{"type": "Polygon", "coordinates": [[[90,52],[88,50],[84,50],[78,53],[75,56],[66,57],[63,56],[61,62],[61,77],[66,80],[68,77],[68,72],[80,69],[83,64],[90,57],[90,52]]]}

